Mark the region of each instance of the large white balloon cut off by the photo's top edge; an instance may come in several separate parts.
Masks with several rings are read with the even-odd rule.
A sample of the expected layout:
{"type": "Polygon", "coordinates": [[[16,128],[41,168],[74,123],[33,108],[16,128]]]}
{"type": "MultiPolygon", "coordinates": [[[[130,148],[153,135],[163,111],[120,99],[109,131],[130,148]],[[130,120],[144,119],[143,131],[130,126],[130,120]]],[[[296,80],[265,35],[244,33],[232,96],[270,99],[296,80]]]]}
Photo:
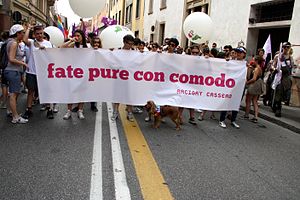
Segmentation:
{"type": "Polygon", "coordinates": [[[105,0],[69,0],[74,13],[83,18],[90,18],[97,15],[104,7],[105,0]]]}

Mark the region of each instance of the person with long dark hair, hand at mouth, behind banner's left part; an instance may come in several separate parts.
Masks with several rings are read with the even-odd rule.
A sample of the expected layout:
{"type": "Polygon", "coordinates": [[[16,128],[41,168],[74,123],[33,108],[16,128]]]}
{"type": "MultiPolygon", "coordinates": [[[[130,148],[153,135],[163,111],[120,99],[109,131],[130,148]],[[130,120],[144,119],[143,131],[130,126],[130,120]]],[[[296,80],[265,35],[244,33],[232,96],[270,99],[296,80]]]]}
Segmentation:
{"type": "MultiPolygon", "coordinates": [[[[74,32],[74,38],[70,39],[68,42],[64,43],[61,48],[88,48],[85,35],[82,30],[76,30],[74,32]]],[[[83,102],[78,103],[78,118],[84,119],[83,115],[83,102]]],[[[70,119],[72,116],[72,106],[73,104],[68,104],[68,111],[64,115],[63,119],[70,119]]]]}

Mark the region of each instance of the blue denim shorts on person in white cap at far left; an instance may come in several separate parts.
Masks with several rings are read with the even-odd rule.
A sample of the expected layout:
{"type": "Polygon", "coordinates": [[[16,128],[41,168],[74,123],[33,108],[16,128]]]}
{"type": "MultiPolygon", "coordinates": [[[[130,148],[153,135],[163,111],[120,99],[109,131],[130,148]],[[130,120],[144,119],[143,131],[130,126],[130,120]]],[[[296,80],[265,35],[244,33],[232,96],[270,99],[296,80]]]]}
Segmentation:
{"type": "Polygon", "coordinates": [[[20,91],[21,91],[21,72],[5,70],[4,77],[8,81],[9,93],[20,93],[20,91]]]}

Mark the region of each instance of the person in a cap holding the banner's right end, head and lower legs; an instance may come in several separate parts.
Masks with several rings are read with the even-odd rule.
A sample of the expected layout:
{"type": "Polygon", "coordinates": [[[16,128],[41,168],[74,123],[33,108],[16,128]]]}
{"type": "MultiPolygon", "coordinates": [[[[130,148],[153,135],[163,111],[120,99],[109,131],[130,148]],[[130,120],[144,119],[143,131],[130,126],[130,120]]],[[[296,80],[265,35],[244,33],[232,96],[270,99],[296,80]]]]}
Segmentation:
{"type": "MultiPolygon", "coordinates": [[[[247,50],[245,47],[243,46],[240,46],[236,49],[234,49],[235,52],[237,53],[236,54],[236,59],[237,60],[240,60],[240,61],[243,61],[245,60],[246,58],[246,54],[247,54],[247,50]]],[[[220,122],[219,122],[219,125],[222,127],[222,128],[226,128],[226,123],[225,123],[225,118],[226,118],[226,114],[227,114],[227,111],[222,111],[221,112],[221,115],[220,115],[220,122]]],[[[233,110],[232,111],[232,116],[231,116],[231,125],[235,128],[240,128],[240,125],[238,125],[236,123],[236,117],[237,117],[237,114],[238,114],[238,111],[237,110],[233,110]]]]}

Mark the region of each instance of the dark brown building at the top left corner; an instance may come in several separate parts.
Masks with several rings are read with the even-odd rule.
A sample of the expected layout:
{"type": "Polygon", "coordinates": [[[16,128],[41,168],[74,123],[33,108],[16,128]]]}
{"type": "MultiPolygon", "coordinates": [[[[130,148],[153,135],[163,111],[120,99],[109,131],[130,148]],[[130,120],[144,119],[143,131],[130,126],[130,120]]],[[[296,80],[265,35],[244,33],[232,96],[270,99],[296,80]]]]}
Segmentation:
{"type": "Polygon", "coordinates": [[[50,7],[55,0],[2,0],[0,1],[0,31],[13,24],[30,22],[51,24],[50,7]]]}

